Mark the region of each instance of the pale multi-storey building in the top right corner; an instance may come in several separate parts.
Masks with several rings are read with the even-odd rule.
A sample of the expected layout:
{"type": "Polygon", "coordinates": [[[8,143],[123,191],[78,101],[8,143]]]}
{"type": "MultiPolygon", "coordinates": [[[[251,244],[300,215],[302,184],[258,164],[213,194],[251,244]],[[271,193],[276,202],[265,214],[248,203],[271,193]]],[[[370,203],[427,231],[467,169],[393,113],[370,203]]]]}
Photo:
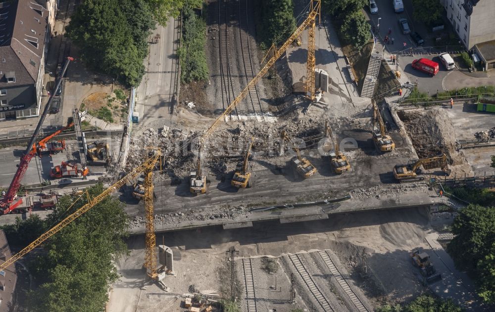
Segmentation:
{"type": "Polygon", "coordinates": [[[495,0],[442,0],[447,19],[467,49],[495,40],[495,0]]]}

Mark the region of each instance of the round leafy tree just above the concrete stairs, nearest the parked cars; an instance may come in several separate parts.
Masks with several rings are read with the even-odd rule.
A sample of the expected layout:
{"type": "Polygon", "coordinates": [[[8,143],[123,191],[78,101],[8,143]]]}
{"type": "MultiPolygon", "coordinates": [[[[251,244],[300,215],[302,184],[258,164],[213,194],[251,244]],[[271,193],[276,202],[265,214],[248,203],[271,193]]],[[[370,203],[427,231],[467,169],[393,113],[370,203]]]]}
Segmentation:
{"type": "Polygon", "coordinates": [[[345,40],[355,47],[360,47],[369,42],[370,25],[361,11],[354,12],[345,17],[341,27],[341,34],[345,40]]]}

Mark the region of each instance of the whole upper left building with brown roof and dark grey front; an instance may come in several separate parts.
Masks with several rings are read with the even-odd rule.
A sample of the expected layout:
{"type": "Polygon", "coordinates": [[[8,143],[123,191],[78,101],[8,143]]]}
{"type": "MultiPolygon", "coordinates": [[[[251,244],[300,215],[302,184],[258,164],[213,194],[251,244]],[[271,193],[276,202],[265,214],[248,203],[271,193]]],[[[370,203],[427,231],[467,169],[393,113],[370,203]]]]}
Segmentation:
{"type": "Polygon", "coordinates": [[[0,120],[38,116],[49,11],[32,0],[0,0],[0,120]]]}

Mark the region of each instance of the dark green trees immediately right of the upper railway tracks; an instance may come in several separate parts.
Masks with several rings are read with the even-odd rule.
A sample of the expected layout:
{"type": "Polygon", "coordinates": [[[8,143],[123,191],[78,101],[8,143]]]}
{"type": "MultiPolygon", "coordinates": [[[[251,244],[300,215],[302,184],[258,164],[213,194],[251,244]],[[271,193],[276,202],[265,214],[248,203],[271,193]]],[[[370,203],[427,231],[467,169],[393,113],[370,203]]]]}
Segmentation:
{"type": "Polygon", "coordinates": [[[256,36],[265,46],[280,45],[296,31],[292,0],[259,0],[254,16],[256,36]]]}

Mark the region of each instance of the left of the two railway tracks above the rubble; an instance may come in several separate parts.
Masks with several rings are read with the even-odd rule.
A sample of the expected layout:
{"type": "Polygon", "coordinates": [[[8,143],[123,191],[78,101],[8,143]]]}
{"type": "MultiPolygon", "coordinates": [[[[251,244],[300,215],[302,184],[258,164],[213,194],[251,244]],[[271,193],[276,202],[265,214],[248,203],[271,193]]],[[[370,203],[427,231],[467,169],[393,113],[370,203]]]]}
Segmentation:
{"type": "MultiPolygon", "coordinates": [[[[228,0],[219,0],[218,4],[218,49],[220,54],[220,76],[222,89],[222,105],[225,110],[236,98],[232,81],[232,70],[229,57],[229,12],[228,0]],[[222,23],[223,21],[223,23],[222,23]]],[[[235,109],[237,116],[239,113],[235,109]]]]}

